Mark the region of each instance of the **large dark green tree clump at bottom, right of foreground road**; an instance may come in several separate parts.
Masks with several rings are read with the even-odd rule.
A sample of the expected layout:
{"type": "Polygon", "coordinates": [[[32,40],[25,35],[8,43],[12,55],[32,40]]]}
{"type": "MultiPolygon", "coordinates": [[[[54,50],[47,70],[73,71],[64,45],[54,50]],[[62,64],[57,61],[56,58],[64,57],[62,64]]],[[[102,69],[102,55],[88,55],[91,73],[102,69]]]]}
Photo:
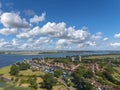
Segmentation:
{"type": "Polygon", "coordinates": [[[83,67],[79,67],[73,72],[73,82],[78,90],[94,90],[93,85],[87,81],[86,78],[92,78],[94,76],[93,72],[89,69],[86,70],[83,67]]]}

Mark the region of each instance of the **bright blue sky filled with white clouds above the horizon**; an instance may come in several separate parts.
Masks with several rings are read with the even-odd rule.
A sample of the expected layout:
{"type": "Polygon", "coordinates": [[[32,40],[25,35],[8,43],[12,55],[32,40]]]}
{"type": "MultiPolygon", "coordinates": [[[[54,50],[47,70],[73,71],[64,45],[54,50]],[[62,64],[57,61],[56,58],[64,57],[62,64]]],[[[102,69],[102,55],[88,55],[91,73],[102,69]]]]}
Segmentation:
{"type": "Polygon", "coordinates": [[[120,50],[120,0],[0,0],[0,50],[120,50]]]}

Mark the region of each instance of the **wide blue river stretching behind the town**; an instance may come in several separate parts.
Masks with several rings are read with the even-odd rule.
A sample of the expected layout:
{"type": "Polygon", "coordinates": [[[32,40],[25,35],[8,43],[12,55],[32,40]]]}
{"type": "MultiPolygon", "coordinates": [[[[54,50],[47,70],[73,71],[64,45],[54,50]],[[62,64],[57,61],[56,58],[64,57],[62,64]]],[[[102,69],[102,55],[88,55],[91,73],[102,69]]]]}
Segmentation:
{"type": "Polygon", "coordinates": [[[82,52],[82,53],[56,53],[56,54],[39,54],[39,55],[14,55],[14,54],[0,54],[0,68],[11,65],[16,62],[21,62],[24,59],[42,58],[42,57],[66,57],[73,55],[92,55],[92,54],[109,54],[109,52],[82,52]]]}

